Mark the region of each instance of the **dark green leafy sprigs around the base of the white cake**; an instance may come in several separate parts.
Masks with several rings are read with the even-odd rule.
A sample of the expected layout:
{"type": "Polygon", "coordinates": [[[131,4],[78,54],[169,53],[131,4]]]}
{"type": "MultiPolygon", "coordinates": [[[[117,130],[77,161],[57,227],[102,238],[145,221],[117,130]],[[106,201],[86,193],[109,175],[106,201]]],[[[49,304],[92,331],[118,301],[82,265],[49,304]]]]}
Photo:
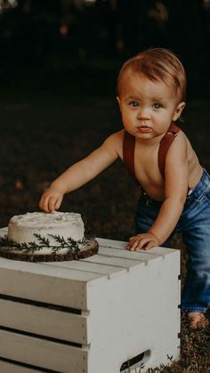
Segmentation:
{"type": "Polygon", "coordinates": [[[68,254],[75,255],[79,251],[79,247],[81,245],[85,246],[88,239],[93,239],[91,237],[90,238],[85,237],[84,239],[80,241],[75,241],[74,239],[71,239],[71,238],[64,239],[61,236],[49,234],[48,236],[52,237],[52,239],[54,239],[58,243],[58,245],[52,245],[49,239],[42,237],[40,234],[34,234],[34,236],[36,237],[36,240],[38,242],[32,241],[26,244],[26,243],[14,242],[8,239],[7,235],[4,235],[4,237],[0,237],[0,247],[8,247],[11,249],[15,248],[16,250],[20,250],[24,253],[30,252],[32,254],[41,250],[44,247],[50,248],[52,250],[52,254],[59,254],[59,251],[61,251],[63,248],[66,248],[68,254]]]}

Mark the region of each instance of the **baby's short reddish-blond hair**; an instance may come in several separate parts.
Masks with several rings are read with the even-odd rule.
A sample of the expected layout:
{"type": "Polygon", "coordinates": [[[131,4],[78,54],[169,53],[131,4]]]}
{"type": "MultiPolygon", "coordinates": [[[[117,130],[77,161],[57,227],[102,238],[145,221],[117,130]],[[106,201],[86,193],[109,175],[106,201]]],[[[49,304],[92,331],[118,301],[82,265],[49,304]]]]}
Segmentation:
{"type": "Polygon", "coordinates": [[[186,74],[175,53],[165,48],[150,48],[126,61],[117,77],[117,95],[120,94],[122,77],[127,70],[143,74],[151,81],[164,81],[166,85],[173,86],[177,101],[185,100],[186,74]]]}

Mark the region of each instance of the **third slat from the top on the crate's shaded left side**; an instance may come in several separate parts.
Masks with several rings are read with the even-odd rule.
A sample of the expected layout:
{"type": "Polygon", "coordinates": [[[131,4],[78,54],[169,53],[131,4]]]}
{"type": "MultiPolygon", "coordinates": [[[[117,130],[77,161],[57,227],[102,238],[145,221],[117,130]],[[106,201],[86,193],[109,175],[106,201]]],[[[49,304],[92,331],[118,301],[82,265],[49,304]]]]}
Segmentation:
{"type": "Polygon", "coordinates": [[[36,337],[0,330],[1,356],[62,373],[87,373],[84,348],[61,345],[36,337]]]}

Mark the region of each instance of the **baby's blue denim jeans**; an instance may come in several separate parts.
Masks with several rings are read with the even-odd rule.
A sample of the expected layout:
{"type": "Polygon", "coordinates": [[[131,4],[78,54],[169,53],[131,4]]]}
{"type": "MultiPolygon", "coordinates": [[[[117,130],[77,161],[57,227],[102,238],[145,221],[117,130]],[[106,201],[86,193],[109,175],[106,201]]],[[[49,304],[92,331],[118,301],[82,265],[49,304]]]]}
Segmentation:
{"type": "MultiPolygon", "coordinates": [[[[150,199],[147,195],[141,196],[135,216],[136,234],[149,230],[161,205],[162,202],[150,199]]],[[[206,170],[187,197],[182,215],[163,247],[169,247],[174,232],[182,232],[189,256],[182,291],[182,310],[206,312],[210,305],[210,176],[206,170]]]]}

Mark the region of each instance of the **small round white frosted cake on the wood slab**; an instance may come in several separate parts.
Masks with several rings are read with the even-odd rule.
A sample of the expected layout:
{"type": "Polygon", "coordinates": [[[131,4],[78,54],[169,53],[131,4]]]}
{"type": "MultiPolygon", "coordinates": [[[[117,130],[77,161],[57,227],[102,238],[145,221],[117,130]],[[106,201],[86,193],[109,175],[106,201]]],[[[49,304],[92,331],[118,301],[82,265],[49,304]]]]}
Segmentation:
{"type": "Polygon", "coordinates": [[[50,244],[59,246],[60,244],[50,235],[61,236],[66,239],[81,241],[84,239],[85,225],[81,215],[75,213],[54,212],[27,213],[15,215],[9,222],[8,239],[17,243],[36,242],[40,245],[35,234],[39,234],[45,239],[49,239],[50,244]]]}

